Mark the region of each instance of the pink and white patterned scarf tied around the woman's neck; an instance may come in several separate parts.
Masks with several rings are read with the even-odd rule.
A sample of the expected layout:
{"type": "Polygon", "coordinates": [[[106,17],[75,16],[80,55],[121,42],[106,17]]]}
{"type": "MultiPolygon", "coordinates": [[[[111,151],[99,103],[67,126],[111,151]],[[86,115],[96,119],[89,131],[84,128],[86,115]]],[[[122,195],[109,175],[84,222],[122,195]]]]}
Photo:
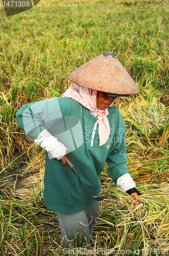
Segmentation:
{"type": "MultiPolygon", "coordinates": [[[[98,117],[99,123],[99,146],[102,146],[108,140],[110,134],[110,126],[107,119],[108,110],[99,110],[96,105],[97,91],[86,87],[78,86],[74,83],[74,88],[69,87],[68,90],[63,94],[62,97],[73,98],[78,101],[81,105],[85,106],[88,110],[93,111],[93,115],[98,117]]],[[[110,106],[113,106],[112,102],[110,106]]]]}

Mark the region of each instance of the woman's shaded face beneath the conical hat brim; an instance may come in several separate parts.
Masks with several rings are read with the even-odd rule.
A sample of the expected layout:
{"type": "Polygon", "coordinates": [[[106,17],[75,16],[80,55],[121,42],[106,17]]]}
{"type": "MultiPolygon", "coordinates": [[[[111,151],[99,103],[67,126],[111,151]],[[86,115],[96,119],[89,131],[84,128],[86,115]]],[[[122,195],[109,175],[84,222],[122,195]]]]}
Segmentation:
{"type": "Polygon", "coordinates": [[[99,110],[106,110],[117,97],[108,96],[103,92],[97,92],[96,105],[99,110]]]}

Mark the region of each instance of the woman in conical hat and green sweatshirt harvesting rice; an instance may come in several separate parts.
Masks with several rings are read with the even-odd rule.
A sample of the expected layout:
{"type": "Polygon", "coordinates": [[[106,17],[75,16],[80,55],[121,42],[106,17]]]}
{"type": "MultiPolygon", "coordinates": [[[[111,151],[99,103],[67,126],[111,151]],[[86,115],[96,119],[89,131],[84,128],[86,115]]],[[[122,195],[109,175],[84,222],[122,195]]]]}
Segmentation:
{"type": "Polygon", "coordinates": [[[114,106],[118,96],[139,92],[136,84],[112,53],[85,63],[69,79],[74,88],[63,97],[26,104],[17,112],[26,136],[46,150],[44,204],[57,212],[65,246],[73,240],[74,228],[78,234],[85,231],[88,244],[94,242],[92,232],[100,208],[99,201],[83,193],[66,165],[66,152],[93,196],[100,195],[105,161],[115,184],[136,203],[140,195],[126,166],[125,124],[114,106]]]}

